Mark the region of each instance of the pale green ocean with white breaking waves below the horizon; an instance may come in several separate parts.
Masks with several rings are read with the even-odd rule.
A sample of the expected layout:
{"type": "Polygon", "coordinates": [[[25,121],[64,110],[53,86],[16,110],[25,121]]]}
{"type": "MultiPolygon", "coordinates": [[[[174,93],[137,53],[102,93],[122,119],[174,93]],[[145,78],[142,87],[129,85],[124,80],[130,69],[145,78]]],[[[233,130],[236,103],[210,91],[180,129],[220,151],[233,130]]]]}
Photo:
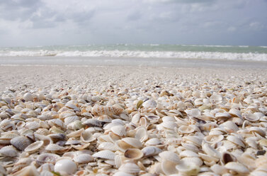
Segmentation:
{"type": "Polygon", "coordinates": [[[116,44],[0,48],[0,57],[43,56],[267,61],[267,46],[116,44]]]}

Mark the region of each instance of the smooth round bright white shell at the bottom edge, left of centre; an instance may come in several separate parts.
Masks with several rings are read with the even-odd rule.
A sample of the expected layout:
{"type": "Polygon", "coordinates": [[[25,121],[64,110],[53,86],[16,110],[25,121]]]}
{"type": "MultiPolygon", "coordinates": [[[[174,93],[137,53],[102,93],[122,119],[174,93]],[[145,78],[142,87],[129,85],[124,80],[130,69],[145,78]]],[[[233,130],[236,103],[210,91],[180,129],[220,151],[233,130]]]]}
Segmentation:
{"type": "Polygon", "coordinates": [[[72,175],[77,170],[76,164],[69,159],[58,160],[54,167],[55,172],[67,172],[72,175]]]}

